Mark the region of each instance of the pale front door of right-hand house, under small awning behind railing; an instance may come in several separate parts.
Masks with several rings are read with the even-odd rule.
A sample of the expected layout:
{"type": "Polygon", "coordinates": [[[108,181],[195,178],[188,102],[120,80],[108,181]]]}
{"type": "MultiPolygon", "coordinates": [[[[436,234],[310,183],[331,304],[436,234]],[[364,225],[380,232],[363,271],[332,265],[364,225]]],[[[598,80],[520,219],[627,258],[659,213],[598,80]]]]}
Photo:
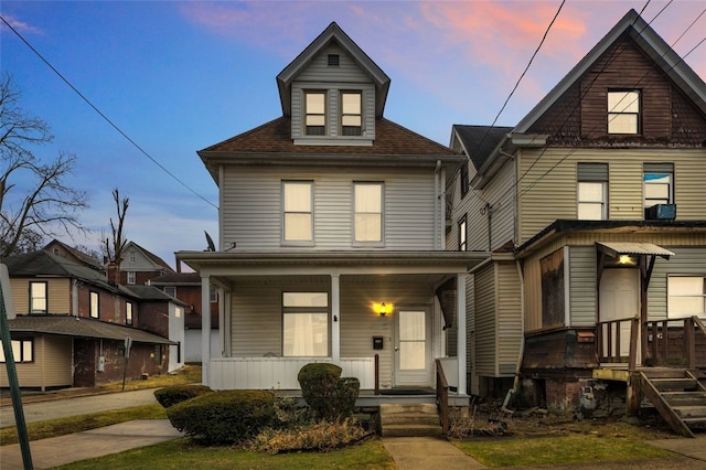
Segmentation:
{"type": "MultiPolygon", "coordinates": [[[[605,269],[600,279],[600,318],[599,321],[623,320],[640,317],[640,270],[639,269],[605,269]]],[[[614,356],[617,353],[617,325],[611,324],[612,344],[603,342],[602,354],[614,356]]],[[[603,338],[607,338],[607,327],[603,325],[603,338]]],[[[640,334],[640,329],[638,329],[640,334]]],[[[638,363],[640,338],[638,338],[638,363]]],[[[630,355],[630,322],[620,322],[620,355],[630,355]]]]}

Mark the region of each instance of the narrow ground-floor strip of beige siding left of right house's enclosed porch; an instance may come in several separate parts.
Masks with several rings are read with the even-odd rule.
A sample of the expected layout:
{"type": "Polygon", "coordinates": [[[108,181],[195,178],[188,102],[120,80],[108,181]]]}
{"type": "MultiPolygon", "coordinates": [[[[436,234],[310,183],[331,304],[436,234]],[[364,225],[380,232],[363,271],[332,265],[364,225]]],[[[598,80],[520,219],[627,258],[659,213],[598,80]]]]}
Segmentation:
{"type": "Polygon", "coordinates": [[[514,263],[496,264],[498,276],[498,370],[499,376],[515,373],[522,342],[520,278],[514,263]]]}

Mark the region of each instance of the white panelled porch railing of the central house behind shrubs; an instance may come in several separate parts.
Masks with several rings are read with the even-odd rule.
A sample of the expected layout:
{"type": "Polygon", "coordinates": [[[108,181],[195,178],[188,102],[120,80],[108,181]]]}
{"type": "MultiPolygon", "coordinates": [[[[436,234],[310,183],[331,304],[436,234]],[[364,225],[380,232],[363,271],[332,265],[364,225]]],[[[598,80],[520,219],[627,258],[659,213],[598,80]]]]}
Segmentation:
{"type": "MultiPolygon", "coordinates": [[[[331,357],[212,357],[210,384],[213,389],[300,389],[297,375],[312,362],[332,362],[331,357]]],[[[374,357],[345,357],[339,365],[341,376],[357,377],[361,389],[375,387],[374,357]]]]}

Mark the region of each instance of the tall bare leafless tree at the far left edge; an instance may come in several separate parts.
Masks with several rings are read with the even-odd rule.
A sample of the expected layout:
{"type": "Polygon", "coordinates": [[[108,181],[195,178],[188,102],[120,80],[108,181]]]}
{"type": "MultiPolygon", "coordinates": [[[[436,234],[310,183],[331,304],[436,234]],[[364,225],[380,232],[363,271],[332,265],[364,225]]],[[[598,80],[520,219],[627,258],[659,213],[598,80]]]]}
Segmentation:
{"type": "Polygon", "coordinates": [[[53,140],[49,125],[19,106],[10,75],[0,78],[0,257],[31,249],[45,236],[85,228],[77,213],[87,195],[66,185],[76,158],[61,152],[44,162],[32,147],[53,140]]]}

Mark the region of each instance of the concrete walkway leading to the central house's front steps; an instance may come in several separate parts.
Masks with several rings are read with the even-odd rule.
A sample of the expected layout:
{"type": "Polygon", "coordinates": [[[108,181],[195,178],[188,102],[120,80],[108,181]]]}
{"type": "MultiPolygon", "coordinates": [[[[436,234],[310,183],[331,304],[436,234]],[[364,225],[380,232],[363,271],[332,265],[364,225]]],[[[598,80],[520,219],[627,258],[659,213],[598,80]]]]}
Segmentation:
{"type": "Polygon", "coordinates": [[[448,440],[434,437],[385,437],[383,446],[399,470],[484,469],[448,440]]]}

